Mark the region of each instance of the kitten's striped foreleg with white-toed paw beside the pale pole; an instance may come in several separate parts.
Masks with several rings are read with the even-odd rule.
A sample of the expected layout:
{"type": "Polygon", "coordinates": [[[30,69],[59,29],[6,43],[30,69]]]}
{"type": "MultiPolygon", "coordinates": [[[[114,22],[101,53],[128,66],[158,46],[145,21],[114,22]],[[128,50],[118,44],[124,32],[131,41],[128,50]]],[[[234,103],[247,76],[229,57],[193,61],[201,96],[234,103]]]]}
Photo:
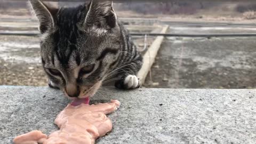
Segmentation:
{"type": "Polygon", "coordinates": [[[119,89],[137,89],[141,86],[140,79],[136,76],[141,68],[141,60],[129,63],[127,67],[122,68],[122,73],[117,75],[121,78],[116,81],[115,86],[119,89]]]}

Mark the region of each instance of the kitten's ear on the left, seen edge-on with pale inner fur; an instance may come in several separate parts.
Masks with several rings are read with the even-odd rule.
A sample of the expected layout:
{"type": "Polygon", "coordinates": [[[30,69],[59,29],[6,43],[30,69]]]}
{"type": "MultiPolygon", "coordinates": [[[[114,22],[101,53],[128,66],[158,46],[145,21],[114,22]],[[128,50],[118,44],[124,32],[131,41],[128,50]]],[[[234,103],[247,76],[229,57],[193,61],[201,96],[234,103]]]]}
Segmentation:
{"type": "Polygon", "coordinates": [[[40,0],[29,0],[29,4],[39,20],[39,31],[44,34],[54,26],[53,18],[58,12],[58,7],[47,6],[40,0]]]}

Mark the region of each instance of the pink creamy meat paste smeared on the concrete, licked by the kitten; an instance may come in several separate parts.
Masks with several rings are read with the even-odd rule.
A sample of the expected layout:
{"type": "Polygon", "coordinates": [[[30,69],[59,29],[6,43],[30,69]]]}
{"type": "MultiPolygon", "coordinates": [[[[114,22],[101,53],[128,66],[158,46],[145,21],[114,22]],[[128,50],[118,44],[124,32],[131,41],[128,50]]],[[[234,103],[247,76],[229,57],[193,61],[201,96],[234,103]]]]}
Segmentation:
{"type": "MultiPolygon", "coordinates": [[[[79,106],[70,104],[63,109],[55,119],[54,123],[60,130],[51,133],[44,138],[43,144],[91,144],[99,137],[102,137],[112,129],[112,123],[106,116],[113,113],[120,103],[112,100],[110,103],[99,103],[88,105],[82,103],[79,106]]],[[[28,141],[38,142],[40,131],[32,131],[14,138],[15,144],[30,144],[28,141]]],[[[39,141],[42,142],[42,141],[39,141]]],[[[34,144],[31,143],[31,144],[34,144]]]]}

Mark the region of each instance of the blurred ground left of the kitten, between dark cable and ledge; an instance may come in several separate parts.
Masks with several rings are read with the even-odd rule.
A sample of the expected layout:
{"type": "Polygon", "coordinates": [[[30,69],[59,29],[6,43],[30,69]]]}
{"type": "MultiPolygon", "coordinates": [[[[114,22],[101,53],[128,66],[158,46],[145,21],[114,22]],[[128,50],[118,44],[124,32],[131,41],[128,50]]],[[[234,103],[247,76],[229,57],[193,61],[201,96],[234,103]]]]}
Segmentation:
{"type": "Polygon", "coordinates": [[[0,36],[0,85],[44,86],[38,37],[0,36]]]}

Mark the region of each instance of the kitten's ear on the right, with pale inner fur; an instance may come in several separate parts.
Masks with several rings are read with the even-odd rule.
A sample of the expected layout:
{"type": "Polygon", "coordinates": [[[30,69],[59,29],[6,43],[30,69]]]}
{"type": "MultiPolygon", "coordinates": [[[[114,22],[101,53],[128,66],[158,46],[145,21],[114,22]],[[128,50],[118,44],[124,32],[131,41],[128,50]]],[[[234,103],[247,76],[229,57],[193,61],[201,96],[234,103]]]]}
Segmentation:
{"type": "Polygon", "coordinates": [[[111,1],[91,1],[88,5],[84,26],[97,26],[98,28],[114,28],[116,26],[116,13],[111,1]]]}

